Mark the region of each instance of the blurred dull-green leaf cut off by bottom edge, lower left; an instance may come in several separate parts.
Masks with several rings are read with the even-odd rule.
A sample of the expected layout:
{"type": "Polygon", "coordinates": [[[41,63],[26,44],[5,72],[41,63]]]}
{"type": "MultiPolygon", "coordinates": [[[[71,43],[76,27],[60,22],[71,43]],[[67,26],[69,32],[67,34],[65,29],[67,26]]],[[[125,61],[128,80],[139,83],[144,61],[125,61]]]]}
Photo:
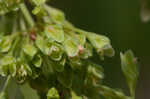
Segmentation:
{"type": "Polygon", "coordinates": [[[37,92],[28,83],[20,86],[24,99],[40,99],[37,92]]]}

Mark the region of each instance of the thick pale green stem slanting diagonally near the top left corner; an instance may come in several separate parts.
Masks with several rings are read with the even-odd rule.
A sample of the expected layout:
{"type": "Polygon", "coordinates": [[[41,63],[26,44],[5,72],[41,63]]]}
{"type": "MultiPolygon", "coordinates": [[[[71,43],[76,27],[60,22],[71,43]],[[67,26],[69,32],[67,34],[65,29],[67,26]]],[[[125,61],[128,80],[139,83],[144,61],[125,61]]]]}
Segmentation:
{"type": "Polygon", "coordinates": [[[32,28],[32,27],[35,25],[35,23],[34,23],[34,21],[33,21],[32,17],[31,17],[31,15],[30,15],[30,13],[29,13],[29,11],[28,11],[26,5],[25,5],[24,3],[21,4],[21,5],[20,5],[20,9],[21,9],[21,11],[22,11],[22,13],[23,13],[23,15],[24,15],[26,21],[28,22],[29,26],[32,28]]]}

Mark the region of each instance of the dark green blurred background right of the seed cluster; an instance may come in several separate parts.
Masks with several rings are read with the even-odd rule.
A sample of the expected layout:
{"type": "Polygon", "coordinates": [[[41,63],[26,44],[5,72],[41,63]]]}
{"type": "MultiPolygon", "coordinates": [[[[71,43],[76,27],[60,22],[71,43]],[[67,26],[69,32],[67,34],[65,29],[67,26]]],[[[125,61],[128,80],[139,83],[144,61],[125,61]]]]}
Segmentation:
{"type": "MultiPolygon", "coordinates": [[[[144,0],[143,0],[144,1],[144,0]]],[[[150,22],[141,20],[139,0],[53,0],[75,26],[108,36],[116,50],[114,58],[102,62],[105,84],[113,88],[127,86],[120,69],[120,51],[132,49],[139,59],[140,78],[136,99],[150,99],[150,22]]]]}

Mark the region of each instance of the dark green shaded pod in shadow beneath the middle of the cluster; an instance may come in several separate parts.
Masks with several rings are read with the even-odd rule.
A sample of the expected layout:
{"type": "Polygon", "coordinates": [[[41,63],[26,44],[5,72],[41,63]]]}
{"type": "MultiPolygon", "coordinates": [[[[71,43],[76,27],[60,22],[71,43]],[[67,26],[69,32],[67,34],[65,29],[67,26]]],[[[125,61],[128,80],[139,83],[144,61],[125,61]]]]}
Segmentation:
{"type": "Polygon", "coordinates": [[[58,73],[57,79],[64,87],[70,88],[72,86],[73,71],[70,67],[65,66],[64,71],[58,73]]]}

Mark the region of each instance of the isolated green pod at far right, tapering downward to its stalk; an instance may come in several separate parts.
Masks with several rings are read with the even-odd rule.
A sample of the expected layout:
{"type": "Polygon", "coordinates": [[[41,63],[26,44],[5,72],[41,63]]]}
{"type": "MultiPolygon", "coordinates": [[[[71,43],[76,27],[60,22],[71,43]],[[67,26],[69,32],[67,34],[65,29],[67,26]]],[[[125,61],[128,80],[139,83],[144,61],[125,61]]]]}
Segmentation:
{"type": "Polygon", "coordinates": [[[120,54],[121,57],[121,68],[124,76],[126,77],[128,87],[130,89],[130,94],[134,97],[136,83],[138,79],[138,65],[136,63],[136,58],[131,50],[126,51],[124,54],[120,54]]]}

